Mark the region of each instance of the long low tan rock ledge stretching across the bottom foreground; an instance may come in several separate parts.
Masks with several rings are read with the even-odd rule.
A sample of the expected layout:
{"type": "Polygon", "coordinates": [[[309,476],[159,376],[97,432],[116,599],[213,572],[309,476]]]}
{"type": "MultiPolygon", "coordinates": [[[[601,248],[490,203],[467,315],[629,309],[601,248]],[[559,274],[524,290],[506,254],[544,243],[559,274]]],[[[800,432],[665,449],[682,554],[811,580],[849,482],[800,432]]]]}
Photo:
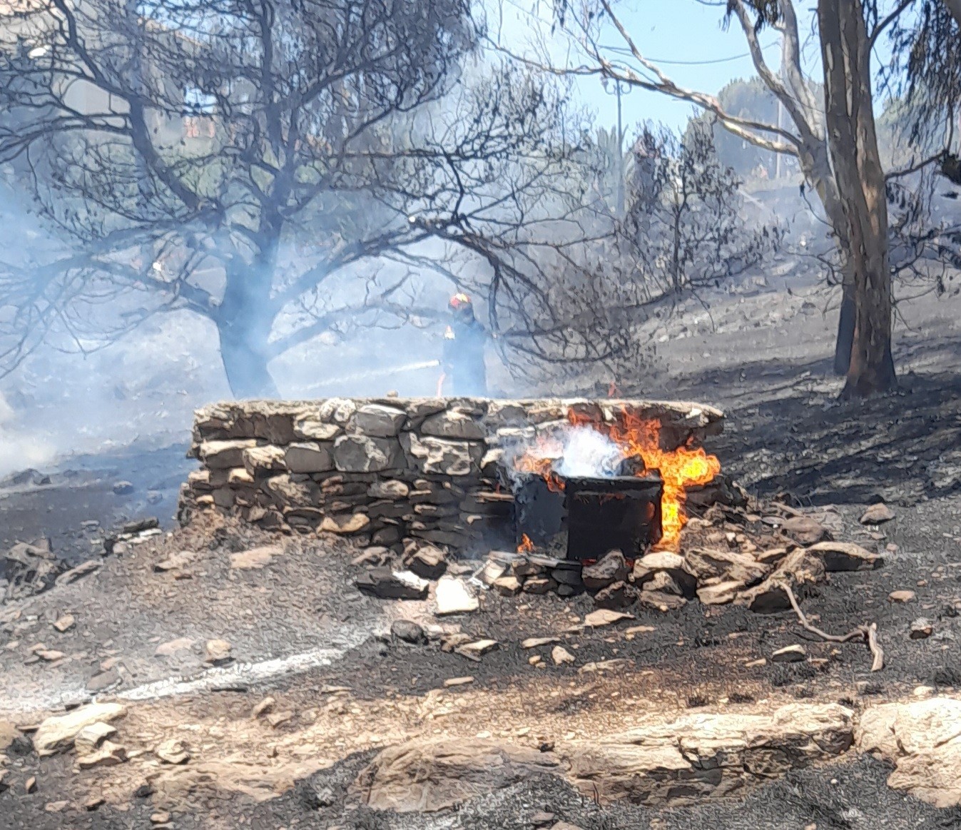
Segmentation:
{"type": "Polygon", "coordinates": [[[681,806],[840,755],[853,740],[851,717],[836,704],[801,703],[759,714],[651,717],[623,734],[565,742],[550,752],[491,740],[418,739],[382,750],[352,792],[377,810],[431,812],[550,773],[588,797],[681,806]]]}

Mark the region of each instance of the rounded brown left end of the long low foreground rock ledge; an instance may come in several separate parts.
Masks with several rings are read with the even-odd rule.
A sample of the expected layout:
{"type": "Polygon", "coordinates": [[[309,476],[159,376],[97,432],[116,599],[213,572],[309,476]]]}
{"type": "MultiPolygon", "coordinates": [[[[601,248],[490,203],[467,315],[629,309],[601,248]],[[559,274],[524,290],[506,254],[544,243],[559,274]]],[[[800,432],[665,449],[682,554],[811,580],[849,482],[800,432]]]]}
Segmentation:
{"type": "Polygon", "coordinates": [[[375,810],[433,812],[555,767],[552,753],[513,743],[415,740],[382,750],[360,772],[352,790],[375,810]]]}

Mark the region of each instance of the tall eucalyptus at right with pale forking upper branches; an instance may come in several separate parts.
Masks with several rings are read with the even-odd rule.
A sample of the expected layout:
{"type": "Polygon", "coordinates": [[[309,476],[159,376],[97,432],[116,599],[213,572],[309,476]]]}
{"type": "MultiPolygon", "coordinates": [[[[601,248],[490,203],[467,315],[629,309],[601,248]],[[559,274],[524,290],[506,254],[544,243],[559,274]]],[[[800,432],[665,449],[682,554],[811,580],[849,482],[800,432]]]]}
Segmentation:
{"type": "MultiPolygon", "coordinates": [[[[940,4],[942,0],[928,0],[928,3],[930,2],[940,4]]],[[[861,196],[858,197],[857,190],[850,189],[854,183],[848,174],[849,171],[844,171],[839,176],[834,169],[833,154],[837,148],[832,144],[839,134],[836,131],[832,132],[826,122],[824,101],[826,91],[820,90],[819,85],[805,75],[803,70],[797,4],[794,0],[728,0],[726,5],[727,16],[733,17],[738,22],[748,42],[758,76],[765,86],[775,93],[788,114],[789,126],[784,127],[780,124],[728,113],[716,96],[679,86],[661,67],[644,56],[610,0],[591,0],[591,2],[580,4],[570,3],[568,0],[555,0],[557,26],[574,38],[579,54],[586,59],[586,63],[553,65],[551,69],[561,74],[564,72],[579,76],[595,74],[602,78],[688,101],[715,118],[718,124],[738,138],[771,152],[795,156],[798,159],[806,189],[813,190],[821,202],[836,245],[837,269],[841,274],[842,303],[835,346],[835,370],[839,374],[848,374],[849,383],[846,386],[848,394],[884,389],[890,385],[890,379],[887,379],[883,373],[875,372],[873,380],[861,380],[863,368],[860,366],[868,360],[863,352],[865,348],[873,350],[868,362],[874,365],[878,372],[879,367],[889,361],[890,317],[886,326],[886,336],[877,329],[877,326],[883,326],[881,319],[883,307],[887,305],[890,308],[890,277],[868,279],[863,273],[866,262],[864,239],[867,238],[850,238],[853,232],[860,234],[862,230],[886,221],[886,212],[883,208],[876,207],[873,195],[877,188],[873,169],[874,159],[876,159],[873,124],[869,133],[868,125],[863,121],[863,115],[862,121],[858,123],[855,114],[848,113],[850,124],[847,125],[844,135],[855,137],[860,142],[856,158],[852,156],[850,162],[855,165],[860,163],[865,174],[872,177],[871,181],[864,183],[864,189],[869,192],[865,193],[858,185],[857,190],[862,190],[861,196]],[[759,34],[765,28],[773,29],[780,37],[780,71],[773,69],[764,57],[759,34]],[[611,29],[622,41],[617,48],[609,45],[611,29]],[[870,171],[869,167],[872,168],[870,171]],[[870,215],[851,214],[858,209],[869,211],[870,215]],[[858,269],[862,269],[862,272],[858,273],[858,269]],[[885,286],[887,289],[884,288],[885,286]],[[874,291],[875,288],[882,290],[885,296],[875,298],[864,295],[865,291],[874,291]],[[873,309],[872,318],[875,320],[873,333],[870,336],[865,331],[866,322],[861,319],[862,310],[866,310],[869,306],[873,309]],[[859,321],[860,330],[859,334],[856,334],[859,321]],[[858,346],[862,349],[862,354],[858,358],[858,365],[851,368],[853,344],[858,337],[862,339],[858,346]],[[868,337],[868,340],[863,340],[865,337],[868,337]],[[877,350],[879,352],[875,354],[877,350]]],[[[863,17],[862,24],[856,30],[845,30],[845,36],[853,38],[848,41],[846,48],[853,49],[856,46],[860,50],[860,53],[851,54],[870,57],[877,39],[899,21],[902,13],[916,4],[914,0],[899,0],[888,5],[885,10],[887,13],[879,10],[880,5],[873,0],[868,0],[867,8],[865,4],[858,3],[857,8],[863,17]]],[[[822,32],[820,37],[825,38],[825,33],[822,32]]],[[[834,48],[837,49],[838,44],[835,44],[834,48]]],[[[527,63],[542,65],[524,56],[516,57],[527,63]]],[[[824,58],[821,63],[824,63],[824,58]]],[[[827,67],[823,66],[823,69],[827,75],[827,67]]],[[[852,61],[841,71],[845,69],[870,73],[870,63],[867,59],[860,63],[852,61]]],[[[836,82],[842,80],[838,74],[835,74],[834,78],[836,82]]],[[[862,79],[849,77],[849,83],[853,88],[861,84],[862,79]]],[[[870,85],[862,91],[870,98],[870,85]]],[[[838,89],[835,88],[835,95],[837,92],[838,89]]],[[[834,111],[835,118],[841,115],[840,110],[834,111]]],[[[842,149],[841,157],[849,152],[854,151],[851,148],[842,149]]],[[[857,170],[857,167],[852,169],[857,170]]],[[[887,177],[899,176],[902,173],[903,171],[889,171],[887,177]]],[[[881,192],[883,192],[883,182],[881,192]]],[[[884,236],[887,234],[887,228],[878,227],[876,233],[884,236]]]]}

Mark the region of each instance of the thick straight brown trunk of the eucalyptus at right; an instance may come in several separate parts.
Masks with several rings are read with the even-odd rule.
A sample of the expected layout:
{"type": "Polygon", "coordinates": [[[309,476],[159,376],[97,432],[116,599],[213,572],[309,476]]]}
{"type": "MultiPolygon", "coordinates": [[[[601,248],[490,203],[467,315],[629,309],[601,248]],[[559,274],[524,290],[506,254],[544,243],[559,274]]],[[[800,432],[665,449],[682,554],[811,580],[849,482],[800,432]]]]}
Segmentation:
{"type": "Polygon", "coordinates": [[[844,396],[896,385],[884,171],[877,152],[871,51],[861,0],[818,0],[826,124],[847,224],[854,331],[844,396]]]}

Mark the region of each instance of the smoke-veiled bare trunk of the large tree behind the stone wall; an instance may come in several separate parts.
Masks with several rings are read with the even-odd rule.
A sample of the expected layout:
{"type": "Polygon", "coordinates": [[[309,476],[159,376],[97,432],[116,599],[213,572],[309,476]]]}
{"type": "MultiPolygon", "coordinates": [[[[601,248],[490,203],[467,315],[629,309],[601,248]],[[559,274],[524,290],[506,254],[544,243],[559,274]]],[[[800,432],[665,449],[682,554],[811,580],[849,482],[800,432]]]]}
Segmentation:
{"type": "Polygon", "coordinates": [[[227,383],[238,399],[280,397],[267,368],[267,342],[273,326],[269,286],[258,269],[228,268],[215,322],[227,383]]]}

